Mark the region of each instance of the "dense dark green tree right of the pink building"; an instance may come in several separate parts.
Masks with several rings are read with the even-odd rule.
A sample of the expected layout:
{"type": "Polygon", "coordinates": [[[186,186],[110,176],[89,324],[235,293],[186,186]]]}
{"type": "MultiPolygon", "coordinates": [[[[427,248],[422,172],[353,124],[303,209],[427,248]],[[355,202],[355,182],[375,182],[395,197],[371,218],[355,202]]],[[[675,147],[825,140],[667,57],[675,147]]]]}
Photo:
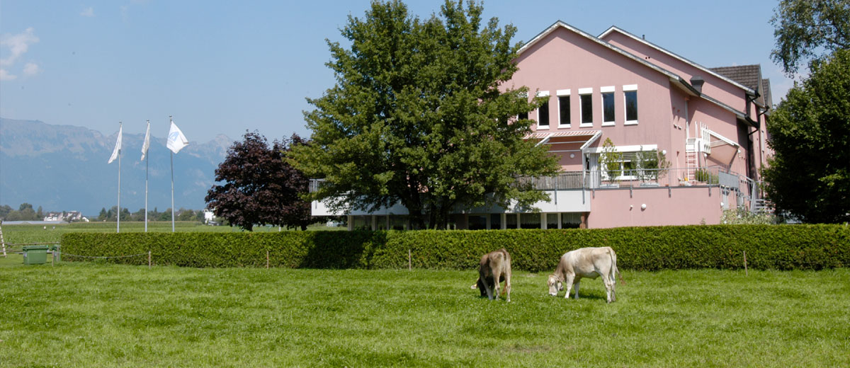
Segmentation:
{"type": "Polygon", "coordinates": [[[810,66],[768,122],[774,156],[762,170],[777,212],[806,223],[850,221],[850,51],[810,66]]]}

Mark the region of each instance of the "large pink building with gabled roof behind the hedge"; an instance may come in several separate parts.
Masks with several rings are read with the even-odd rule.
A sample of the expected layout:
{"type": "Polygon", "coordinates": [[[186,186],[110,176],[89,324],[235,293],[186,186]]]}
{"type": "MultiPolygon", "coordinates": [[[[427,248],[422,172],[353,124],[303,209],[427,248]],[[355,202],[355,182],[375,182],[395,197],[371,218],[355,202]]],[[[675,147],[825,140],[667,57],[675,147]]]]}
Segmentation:
{"type": "MultiPolygon", "coordinates": [[[[772,105],[759,65],[710,69],[615,26],[594,37],[561,21],[517,62],[505,87],[547,99],[528,139],[547,144],[563,173],[528,178],[551,198],[539,212],[459,209],[457,229],[718,224],[724,209],[758,206],[772,105]]],[[[332,213],[314,202],[313,214],[332,213]]],[[[405,215],[351,212],[348,226],[405,229],[405,215]]]]}

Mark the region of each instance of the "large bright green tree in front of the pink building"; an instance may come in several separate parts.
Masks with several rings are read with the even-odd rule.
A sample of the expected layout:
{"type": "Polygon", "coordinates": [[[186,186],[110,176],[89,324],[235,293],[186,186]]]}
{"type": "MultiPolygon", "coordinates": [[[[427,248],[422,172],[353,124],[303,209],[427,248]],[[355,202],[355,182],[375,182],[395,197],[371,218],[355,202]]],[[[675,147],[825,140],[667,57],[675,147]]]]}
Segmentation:
{"type": "Polygon", "coordinates": [[[291,161],[326,181],[311,195],[331,208],[374,211],[400,203],[418,228],[445,229],[456,207],[546,198],[519,176],[553,174],[547,147],[523,139],[533,110],[517,71],[513,25],[482,24],[477,3],[446,1],[421,20],[399,1],[348,17],[350,46],[330,42],[337,84],[305,112],[312,144],[291,161]]]}

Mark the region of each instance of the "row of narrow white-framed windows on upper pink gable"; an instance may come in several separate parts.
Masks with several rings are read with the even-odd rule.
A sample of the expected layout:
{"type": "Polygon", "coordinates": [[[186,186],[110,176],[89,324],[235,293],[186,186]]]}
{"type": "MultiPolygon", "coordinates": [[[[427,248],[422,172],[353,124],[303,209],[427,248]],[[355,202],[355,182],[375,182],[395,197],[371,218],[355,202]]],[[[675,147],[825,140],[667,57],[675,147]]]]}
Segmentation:
{"type": "MultiPolygon", "coordinates": [[[[572,114],[570,89],[558,89],[556,101],[558,102],[558,127],[571,127],[572,114]]],[[[579,127],[593,126],[593,88],[579,88],[579,127]]],[[[599,88],[602,97],[602,126],[609,127],[615,124],[615,88],[614,86],[599,88]]],[[[548,97],[549,91],[537,93],[538,97],[548,97]]],[[[626,110],[625,125],[638,123],[638,85],[628,84],[622,89],[623,106],[626,110]]],[[[537,109],[537,128],[549,128],[549,101],[537,109]]],[[[520,119],[528,119],[528,114],[520,114],[520,119]]]]}

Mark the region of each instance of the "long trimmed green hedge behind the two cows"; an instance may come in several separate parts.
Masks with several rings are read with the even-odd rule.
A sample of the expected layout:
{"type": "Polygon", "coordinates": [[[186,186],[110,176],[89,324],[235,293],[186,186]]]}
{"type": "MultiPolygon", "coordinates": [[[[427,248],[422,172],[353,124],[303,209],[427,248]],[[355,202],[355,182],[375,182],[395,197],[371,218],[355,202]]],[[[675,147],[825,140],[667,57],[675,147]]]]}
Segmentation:
{"type": "MultiPolygon", "coordinates": [[[[513,268],[555,268],[564,252],[611,246],[621,269],[826,269],[850,266],[845,225],[715,225],[618,229],[479,231],[286,231],[279,233],[68,233],[71,255],[115,257],[151,252],[153,262],[184,267],[329,269],[474,269],[501,247],[513,268]]],[[[111,262],[146,264],[144,256],[111,262]]]]}

